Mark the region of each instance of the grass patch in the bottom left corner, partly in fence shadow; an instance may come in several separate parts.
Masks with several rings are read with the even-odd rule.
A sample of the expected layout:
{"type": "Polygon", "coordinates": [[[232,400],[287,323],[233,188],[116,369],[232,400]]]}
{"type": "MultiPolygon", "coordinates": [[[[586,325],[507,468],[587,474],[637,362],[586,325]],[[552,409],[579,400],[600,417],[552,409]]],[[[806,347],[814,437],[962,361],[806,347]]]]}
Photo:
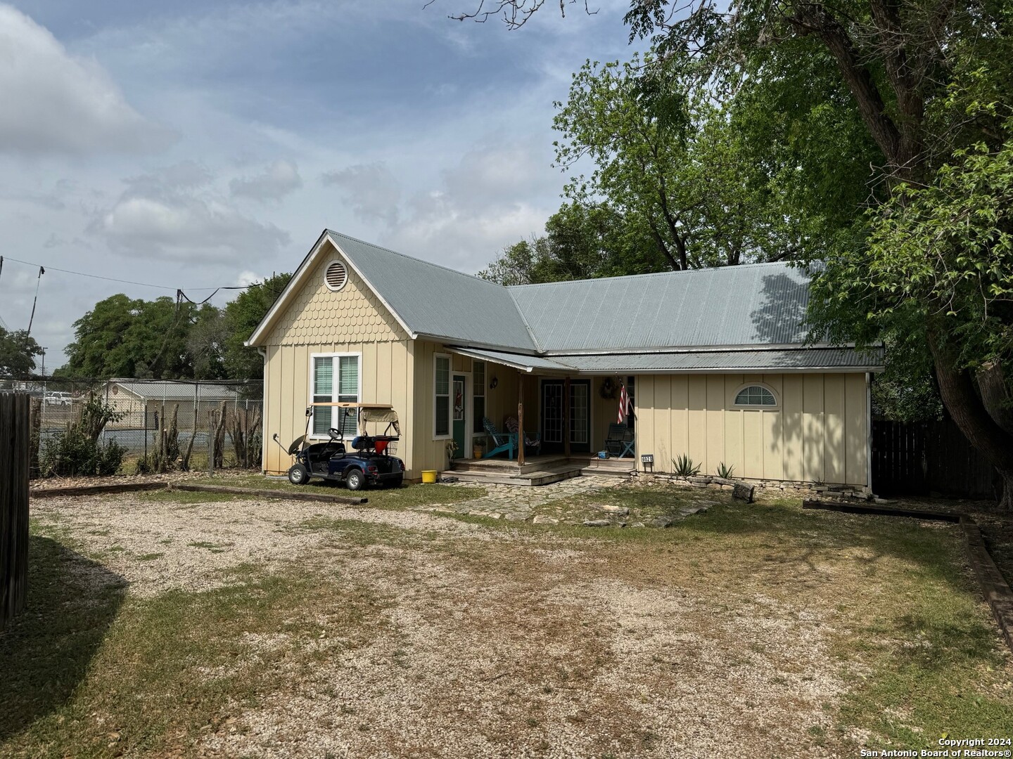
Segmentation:
{"type": "Polygon", "coordinates": [[[30,547],[29,608],[0,636],[3,756],[189,754],[229,704],[255,706],[383,623],[354,581],[246,566],[226,587],[128,598],[56,540],[30,547]]]}

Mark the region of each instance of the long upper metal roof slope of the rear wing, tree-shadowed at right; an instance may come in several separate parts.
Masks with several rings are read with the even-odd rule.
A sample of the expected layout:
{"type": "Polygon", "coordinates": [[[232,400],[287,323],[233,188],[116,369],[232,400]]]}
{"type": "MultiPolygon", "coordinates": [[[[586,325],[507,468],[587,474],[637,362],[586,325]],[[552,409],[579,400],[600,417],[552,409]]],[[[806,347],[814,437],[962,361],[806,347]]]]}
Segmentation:
{"type": "Polygon", "coordinates": [[[508,288],[543,351],[800,344],[808,276],[785,263],[508,288]]]}

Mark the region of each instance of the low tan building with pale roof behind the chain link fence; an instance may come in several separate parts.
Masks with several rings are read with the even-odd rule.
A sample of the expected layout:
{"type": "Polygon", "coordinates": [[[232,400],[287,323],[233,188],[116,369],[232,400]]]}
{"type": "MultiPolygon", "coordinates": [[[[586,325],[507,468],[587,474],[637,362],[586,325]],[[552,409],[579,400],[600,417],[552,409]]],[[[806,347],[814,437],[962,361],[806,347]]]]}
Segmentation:
{"type": "MultiPolygon", "coordinates": [[[[102,396],[106,403],[123,414],[108,429],[157,429],[160,416],[171,418],[177,404],[177,424],[182,429],[193,426],[193,410],[207,414],[220,407],[222,401],[243,404],[236,391],[227,386],[205,383],[169,382],[163,380],[113,378],[105,383],[102,396]]],[[[168,420],[166,420],[168,421],[168,420]]]]}

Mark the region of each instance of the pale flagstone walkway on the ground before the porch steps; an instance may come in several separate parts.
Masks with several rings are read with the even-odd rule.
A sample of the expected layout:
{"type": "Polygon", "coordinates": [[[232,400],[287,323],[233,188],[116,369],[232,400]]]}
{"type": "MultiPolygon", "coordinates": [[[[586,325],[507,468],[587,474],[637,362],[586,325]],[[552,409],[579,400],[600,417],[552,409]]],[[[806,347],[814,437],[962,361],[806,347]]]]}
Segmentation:
{"type": "MultiPolygon", "coordinates": [[[[474,483],[441,481],[452,487],[474,488],[474,483]]],[[[486,495],[471,501],[458,503],[427,504],[415,506],[415,511],[436,511],[452,514],[469,514],[470,516],[486,516],[490,519],[509,519],[515,522],[527,521],[534,510],[550,501],[557,501],[570,496],[592,493],[594,491],[615,488],[626,483],[620,477],[600,477],[591,475],[574,477],[552,485],[542,485],[537,488],[527,488],[518,485],[480,485],[486,490],[486,495]]]]}

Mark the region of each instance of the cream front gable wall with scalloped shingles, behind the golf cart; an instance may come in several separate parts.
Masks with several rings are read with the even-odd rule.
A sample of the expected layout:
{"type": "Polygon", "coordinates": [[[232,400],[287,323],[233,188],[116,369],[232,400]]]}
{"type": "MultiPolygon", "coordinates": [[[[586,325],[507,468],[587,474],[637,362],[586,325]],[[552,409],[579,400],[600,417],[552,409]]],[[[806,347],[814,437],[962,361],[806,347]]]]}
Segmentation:
{"type": "Polygon", "coordinates": [[[405,434],[415,413],[413,343],[350,267],[340,290],[324,284],[324,272],[334,260],[342,259],[333,248],[321,256],[264,340],[263,470],[284,474],[292,463],[271,438],[278,433],[287,448],[306,429],[312,354],[360,353],[361,400],[390,404],[398,412],[402,431],[398,455],[408,476],[417,476],[410,474],[410,437],[405,434]]]}

